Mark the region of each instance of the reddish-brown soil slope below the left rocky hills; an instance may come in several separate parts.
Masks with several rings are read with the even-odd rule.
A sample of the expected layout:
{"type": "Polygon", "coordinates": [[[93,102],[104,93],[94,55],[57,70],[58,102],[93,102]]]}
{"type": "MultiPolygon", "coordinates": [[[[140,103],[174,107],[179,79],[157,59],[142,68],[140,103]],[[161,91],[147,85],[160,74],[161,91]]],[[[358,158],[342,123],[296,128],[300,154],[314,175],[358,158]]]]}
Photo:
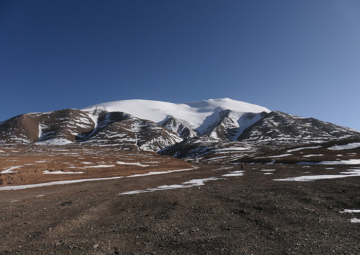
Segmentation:
{"type": "Polygon", "coordinates": [[[183,160],[154,152],[127,152],[112,147],[18,145],[0,150],[3,151],[0,153],[0,187],[58,180],[128,176],[192,166],[183,160]],[[19,168],[11,170],[14,173],[1,174],[1,171],[11,167],[19,168]],[[44,174],[44,171],[50,173],[61,171],[64,174],[44,174]],[[66,174],[66,172],[83,173],[66,174]]]}

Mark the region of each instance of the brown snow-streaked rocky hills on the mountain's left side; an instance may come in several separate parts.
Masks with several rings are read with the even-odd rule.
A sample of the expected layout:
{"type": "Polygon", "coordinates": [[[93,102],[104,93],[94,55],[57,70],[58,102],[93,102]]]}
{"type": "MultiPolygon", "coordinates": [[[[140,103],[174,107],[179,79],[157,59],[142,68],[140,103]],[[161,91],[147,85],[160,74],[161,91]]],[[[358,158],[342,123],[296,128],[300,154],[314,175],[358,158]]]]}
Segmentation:
{"type": "Polygon", "coordinates": [[[0,124],[0,142],[49,145],[75,142],[158,151],[183,140],[150,120],[122,112],[97,111],[95,114],[66,109],[19,115],[0,124]]]}

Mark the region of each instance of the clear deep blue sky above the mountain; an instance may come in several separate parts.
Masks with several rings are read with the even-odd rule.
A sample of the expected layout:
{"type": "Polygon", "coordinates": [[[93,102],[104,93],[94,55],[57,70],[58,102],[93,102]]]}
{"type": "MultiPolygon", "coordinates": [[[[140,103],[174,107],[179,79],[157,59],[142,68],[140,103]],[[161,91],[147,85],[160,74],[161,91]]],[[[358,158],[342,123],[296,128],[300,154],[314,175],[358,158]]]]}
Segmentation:
{"type": "Polygon", "coordinates": [[[228,97],[360,130],[360,1],[1,1],[0,121],[228,97]]]}

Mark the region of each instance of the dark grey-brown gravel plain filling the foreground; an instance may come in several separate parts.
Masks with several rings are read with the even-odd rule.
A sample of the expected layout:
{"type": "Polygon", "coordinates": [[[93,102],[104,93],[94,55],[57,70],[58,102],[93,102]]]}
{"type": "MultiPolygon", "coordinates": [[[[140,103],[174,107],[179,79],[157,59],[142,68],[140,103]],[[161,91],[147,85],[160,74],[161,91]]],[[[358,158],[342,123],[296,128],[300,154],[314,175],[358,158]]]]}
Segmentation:
{"type": "Polygon", "coordinates": [[[0,254],[359,254],[360,177],[273,180],[349,166],[223,168],[0,191],[0,254]]]}

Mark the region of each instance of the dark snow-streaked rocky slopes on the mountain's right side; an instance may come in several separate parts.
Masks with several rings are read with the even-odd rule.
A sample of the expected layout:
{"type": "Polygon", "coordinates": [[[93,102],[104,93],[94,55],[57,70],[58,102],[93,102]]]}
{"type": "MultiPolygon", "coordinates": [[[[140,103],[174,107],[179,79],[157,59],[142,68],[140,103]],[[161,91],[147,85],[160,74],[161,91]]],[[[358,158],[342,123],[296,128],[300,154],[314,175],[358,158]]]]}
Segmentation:
{"type": "MultiPolygon", "coordinates": [[[[229,120],[228,113],[222,112],[223,118],[214,123],[208,134],[184,140],[160,153],[198,163],[296,163],[359,158],[360,148],[348,149],[344,154],[328,150],[333,144],[360,141],[359,131],[274,111],[261,113],[263,117],[237,137],[233,135],[234,122],[229,120]],[[232,140],[233,137],[237,140],[232,140]]],[[[254,118],[258,115],[243,116],[254,118]]]]}

